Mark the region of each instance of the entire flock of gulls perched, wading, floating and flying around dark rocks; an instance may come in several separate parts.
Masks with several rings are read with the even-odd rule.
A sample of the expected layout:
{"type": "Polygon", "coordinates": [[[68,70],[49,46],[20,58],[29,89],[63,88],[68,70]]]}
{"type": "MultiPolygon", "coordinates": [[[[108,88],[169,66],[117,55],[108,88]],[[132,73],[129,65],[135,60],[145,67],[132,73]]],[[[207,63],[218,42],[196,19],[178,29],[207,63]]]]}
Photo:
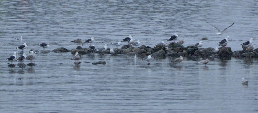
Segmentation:
{"type": "MultiPolygon", "coordinates": [[[[208,23],[208,22],[207,22],[208,23]]],[[[235,23],[235,22],[234,22],[235,23]]],[[[234,23],[232,23],[229,27],[231,27],[234,23]]],[[[208,23],[210,26],[212,26],[213,28],[215,28],[217,30],[217,35],[222,35],[224,34],[225,30],[228,29],[229,27],[225,28],[223,31],[220,31],[216,26],[208,23]]],[[[21,38],[15,38],[17,40],[23,40],[23,36],[21,36],[21,38]]],[[[82,40],[80,38],[78,39],[75,39],[75,40],[72,40],[71,42],[74,42],[77,44],[77,46],[79,45],[83,45],[84,43],[90,43],[90,46],[89,46],[89,50],[90,51],[100,51],[102,52],[102,54],[104,54],[103,52],[106,51],[108,48],[107,48],[107,44],[104,45],[104,47],[101,47],[101,48],[98,48],[96,49],[95,48],[95,45],[91,45],[91,43],[93,43],[95,41],[95,37],[91,37],[90,39],[88,40],[82,40]]],[[[167,40],[167,41],[173,41],[175,43],[175,40],[179,39],[179,34],[178,33],[175,33],[174,35],[170,36],[170,38],[167,40]]],[[[251,38],[249,41],[247,42],[244,42],[242,43],[242,48],[243,49],[246,49],[246,50],[251,50],[253,51],[254,47],[255,47],[255,44],[253,43],[255,39],[251,38]]],[[[127,42],[128,45],[130,46],[136,46],[138,47],[139,45],[141,45],[141,41],[140,40],[135,40],[133,38],[133,36],[129,35],[128,37],[122,39],[121,42],[127,42]]],[[[118,49],[118,46],[122,45],[121,42],[112,42],[111,45],[114,45],[116,46],[116,48],[118,49]]],[[[177,43],[179,44],[183,44],[185,42],[185,40],[179,40],[177,43]]],[[[229,42],[229,36],[227,36],[225,39],[221,40],[220,42],[217,43],[218,46],[221,46],[221,47],[226,47],[226,45],[228,44],[229,42]]],[[[157,45],[164,45],[166,47],[168,47],[168,45],[170,44],[171,42],[167,43],[165,41],[162,41],[162,42],[159,42],[157,43],[157,45]]],[[[18,46],[16,49],[20,49],[22,52],[24,49],[27,48],[27,45],[26,43],[24,43],[23,45],[20,45],[18,46]]],[[[50,45],[46,44],[46,43],[41,43],[41,44],[38,44],[40,47],[43,48],[43,50],[45,50],[46,48],[50,48],[50,45]]],[[[204,45],[204,42],[202,41],[199,41],[198,43],[195,44],[195,47],[197,47],[198,49],[200,47],[202,47],[204,45]]],[[[23,62],[25,59],[26,60],[30,60],[30,62],[32,63],[32,60],[35,58],[36,56],[36,53],[39,52],[39,49],[32,49],[29,51],[29,53],[32,53],[32,55],[28,55],[27,53],[23,53],[22,56],[19,56],[19,58],[17,58],[17,53],[14,52],[14,54],[12,56],[10,56],[9,58],[7,58],[6,60],[8,61],[11,61],[11,64],[13,64],[13,61],[19,61],[19,62],[23,62]],[[27,56],[28,55],[28,56],[27,56]]],[[[219,52],[219,47],[216,47],[213,52],[215,53],[215,55],[219,52]]],[[[110,48],[110,54],[113,55],[115,53],[114,49],[113,48],[110,48]]],[[[148,55],[147,57],[143,58],[142,60],[146,60],[148,62],[148,65],[149,65],[149,61],[152,59],[152,55],[148,55]]],[[[72,58],[72,60],[76,60],[76,62],[78,62],[78,60],[81,58],[81,55],[77,52],[75,53],[75,56],[72,58]]],[[[135,59],[137,59],[137,55],[134,56],[135,59]]],[[[179,58],[175,58],[174,60],[172,60],[172,62],[178,62],[179,66],[180,66],[180,62],[183,61],[183,57],[180,56],[179,58]]],[[[207,58],[206,60],[202,60],[198,63],[202,63],[202,64],[208,64],[209,62],[209,59],[207,58]]],[[[23,68],[24,66],[19,66],[21,68],[23,68]]],[[[242,78],[242,84],[248,84],[248,81],[244,80],[244,78],[242,78]]]]}

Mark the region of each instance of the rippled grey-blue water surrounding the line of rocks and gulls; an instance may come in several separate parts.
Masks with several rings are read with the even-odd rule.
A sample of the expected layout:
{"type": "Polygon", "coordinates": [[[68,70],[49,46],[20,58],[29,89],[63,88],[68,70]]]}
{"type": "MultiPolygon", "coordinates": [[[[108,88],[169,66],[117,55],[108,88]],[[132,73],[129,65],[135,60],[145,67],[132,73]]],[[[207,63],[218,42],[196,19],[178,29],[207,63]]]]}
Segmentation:
{"type": "Polygon", "coordinates": [[[257,36],[257,1],[0,1],[0,9],[0,112],[258,111],[257,59],[215,59],[206,67],[183,60],[178,67],[169,58],[146,66],[140,58],[94,54],[76,66],[72,54],[51,52],[37,54],[37,66],[23,71],[4,60],[24,42],[25,52],[43,42],[51,46],[46,50],[73,49],[71,40],[94,36],[98,48],[133,35],[154,47],[175,32],[185,46],[207,37],[203,47],[215,48],[230,36],[227,46],[241,50],[257,36]],[[235,24],[218,36],[206,21],[221,30],[235,24]],[[22,42],[14,39],[20,36],[22,42]]]}

